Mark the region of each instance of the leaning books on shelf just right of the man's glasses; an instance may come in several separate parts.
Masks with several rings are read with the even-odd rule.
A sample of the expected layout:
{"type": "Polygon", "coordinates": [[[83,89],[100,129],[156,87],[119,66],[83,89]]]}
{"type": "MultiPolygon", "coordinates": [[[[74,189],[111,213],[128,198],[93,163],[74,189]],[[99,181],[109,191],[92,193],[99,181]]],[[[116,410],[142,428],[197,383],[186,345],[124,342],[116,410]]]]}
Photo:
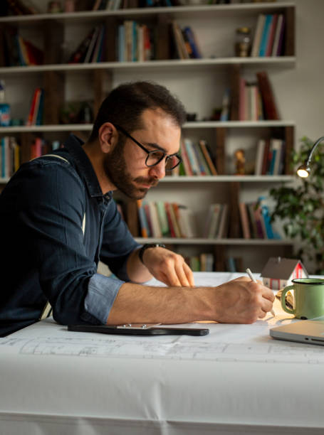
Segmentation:
{"type": "Polygon", "coordinates": [[[197,144],[191,139],[182,140],[180,154],[182,163],[172,171],[172,176],[216,176],[215,158],[207,141],[200,139],[197,144]]]}

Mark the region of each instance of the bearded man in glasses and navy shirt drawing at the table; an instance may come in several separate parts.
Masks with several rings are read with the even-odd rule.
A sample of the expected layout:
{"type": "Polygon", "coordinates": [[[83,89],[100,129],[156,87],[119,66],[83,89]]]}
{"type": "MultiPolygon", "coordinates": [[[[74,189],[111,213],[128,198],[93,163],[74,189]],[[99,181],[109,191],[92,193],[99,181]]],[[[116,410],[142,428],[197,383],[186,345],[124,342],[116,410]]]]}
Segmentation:
{"type": "Polygon", "coordinates": [[[141,247],[113,191],[144,198],[180,161],[184,108],[164,87],[120,85],[101,105],[89,140],[24,163],[1,194],[0,332],[41,316],[68,323],[251,323],[271,310],[272,291],[248,278],[194,287],[184,259],[141,247]],[[98,274],[99,260],[118,277],[98,274]],[[167,287],[145,286],[152,276],[167,287]]]}

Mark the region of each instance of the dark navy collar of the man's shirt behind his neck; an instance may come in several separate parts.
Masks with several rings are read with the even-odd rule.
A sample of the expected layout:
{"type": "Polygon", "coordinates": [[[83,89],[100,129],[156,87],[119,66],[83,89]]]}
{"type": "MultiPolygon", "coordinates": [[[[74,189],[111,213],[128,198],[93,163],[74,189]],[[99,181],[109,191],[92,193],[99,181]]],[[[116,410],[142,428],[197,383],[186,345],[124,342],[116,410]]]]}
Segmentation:
{"type": "Polygon", "coordinates": [[[113,196],[113,192],[108,192],[103,195],[103,190],[100,188],[100,184],[98,178],[95,174],[95,170],[87,156],[85,151],[83,150],[84,142],[81,141],[74,134],[70,134],[64,146],[68,149],[68,152],[75,160],[75,163],[78,167],[78,171],[80,172],[80,176],[82,176],[85,180],[85,184],[89,190],[90,196],[105,198],[107,200],[111,199],[113,196]]]}

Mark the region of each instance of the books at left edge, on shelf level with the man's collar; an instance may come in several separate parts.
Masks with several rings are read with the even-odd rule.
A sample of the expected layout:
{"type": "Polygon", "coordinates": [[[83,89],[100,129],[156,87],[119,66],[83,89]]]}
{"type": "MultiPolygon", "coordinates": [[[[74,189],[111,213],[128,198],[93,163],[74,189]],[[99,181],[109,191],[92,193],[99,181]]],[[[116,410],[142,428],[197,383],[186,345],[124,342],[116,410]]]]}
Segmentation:
{"type": "Polygon", "coordinates": [[[9,178],[21,163],[21,149],[14,136],[1,137],[0,176],[9,178]]]}

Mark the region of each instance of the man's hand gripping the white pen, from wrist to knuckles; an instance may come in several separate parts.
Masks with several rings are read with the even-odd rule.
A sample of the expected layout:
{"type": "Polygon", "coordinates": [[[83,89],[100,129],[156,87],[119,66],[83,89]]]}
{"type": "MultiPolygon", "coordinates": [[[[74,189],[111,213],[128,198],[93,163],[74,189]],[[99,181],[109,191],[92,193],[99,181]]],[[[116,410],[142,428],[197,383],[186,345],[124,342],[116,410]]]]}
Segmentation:
{"type": "Polygon", "coordinates": [[[275,296],[261,281],[246,276],[233,279],[216,288],[214,320],[221,323],[254,323],[271,311],[275,296]]]}

